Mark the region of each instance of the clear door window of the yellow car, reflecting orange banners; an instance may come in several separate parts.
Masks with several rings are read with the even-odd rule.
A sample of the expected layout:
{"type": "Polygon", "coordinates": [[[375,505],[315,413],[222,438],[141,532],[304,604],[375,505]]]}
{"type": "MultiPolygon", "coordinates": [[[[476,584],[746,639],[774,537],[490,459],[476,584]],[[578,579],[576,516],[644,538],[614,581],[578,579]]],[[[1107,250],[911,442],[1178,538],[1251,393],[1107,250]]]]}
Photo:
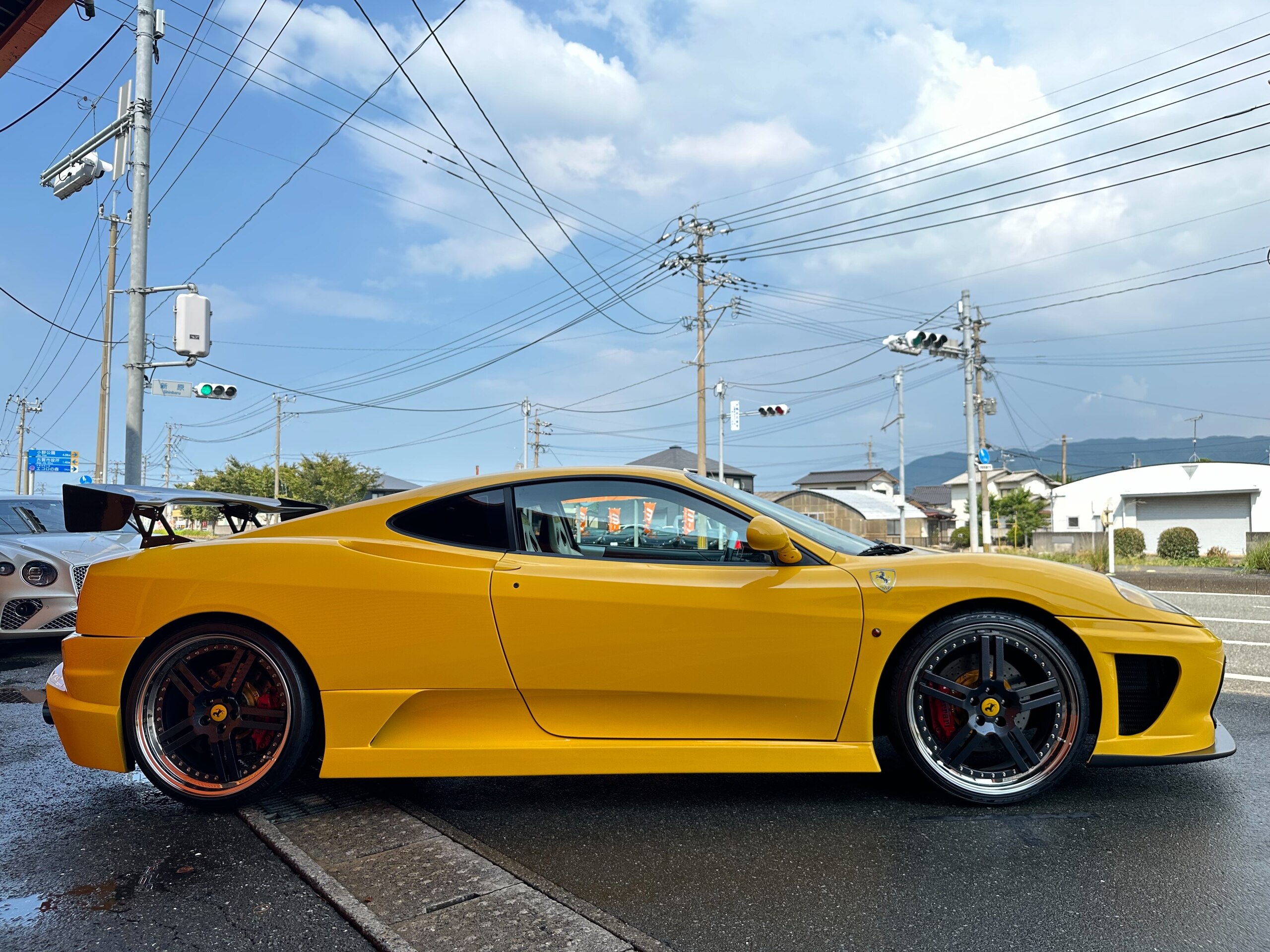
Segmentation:
{"type": "Polygon", "coordinates": [[[575,559],[761,562],[747,520],[672,486],[638,480],[559,480],[514,486],[522,551],[575,559]]]}

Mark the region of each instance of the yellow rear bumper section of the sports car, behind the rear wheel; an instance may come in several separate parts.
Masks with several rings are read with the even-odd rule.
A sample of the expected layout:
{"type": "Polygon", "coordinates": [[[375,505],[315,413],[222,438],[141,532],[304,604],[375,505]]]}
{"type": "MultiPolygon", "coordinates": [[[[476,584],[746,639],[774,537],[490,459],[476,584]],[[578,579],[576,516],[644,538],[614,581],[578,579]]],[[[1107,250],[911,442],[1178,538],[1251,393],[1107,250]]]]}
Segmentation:
{"type": "Polygon", "coordinates": [[[141,641],[83,635],[62,641],[62,664],[48,675],[44,694],[71,763],[119,773],[132,769],[123,741],[123,675],[141,641]]]}

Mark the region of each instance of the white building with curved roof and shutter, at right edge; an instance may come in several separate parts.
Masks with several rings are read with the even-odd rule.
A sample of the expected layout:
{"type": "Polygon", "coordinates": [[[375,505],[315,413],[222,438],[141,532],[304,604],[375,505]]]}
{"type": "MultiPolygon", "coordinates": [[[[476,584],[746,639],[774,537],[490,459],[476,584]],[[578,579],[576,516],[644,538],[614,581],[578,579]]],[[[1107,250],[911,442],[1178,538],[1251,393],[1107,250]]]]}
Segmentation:
{"type": "Polygon", "coordinates": [[[1148,552],[1167,522],[1195,529],[1201,553],[1222,546],[1242,555],[1243,532],[1270,532],[1266,490],[1270,466],[1264,463],[1163,463],[1058,486],[1050,509],[1054,532],[1099,532],[1102,510],[1111,509],[1116,528],[1143,529],[1148,552]],[[1246,508],[1240,496],[1248,499],[1246,508]]]}

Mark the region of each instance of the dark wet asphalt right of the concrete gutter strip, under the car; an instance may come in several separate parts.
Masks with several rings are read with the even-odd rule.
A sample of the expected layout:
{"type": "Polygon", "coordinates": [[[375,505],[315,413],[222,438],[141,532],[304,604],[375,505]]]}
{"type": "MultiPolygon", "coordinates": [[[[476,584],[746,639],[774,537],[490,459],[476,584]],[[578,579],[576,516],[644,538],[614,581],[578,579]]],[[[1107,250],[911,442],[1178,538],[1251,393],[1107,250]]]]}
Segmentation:
{"type": "Polygon", "coordinates": [[[903,773],[415,781],[410,796],[676,949],[1270,948],[1270,698],[1240,753],[963,807],[903,773]]]}

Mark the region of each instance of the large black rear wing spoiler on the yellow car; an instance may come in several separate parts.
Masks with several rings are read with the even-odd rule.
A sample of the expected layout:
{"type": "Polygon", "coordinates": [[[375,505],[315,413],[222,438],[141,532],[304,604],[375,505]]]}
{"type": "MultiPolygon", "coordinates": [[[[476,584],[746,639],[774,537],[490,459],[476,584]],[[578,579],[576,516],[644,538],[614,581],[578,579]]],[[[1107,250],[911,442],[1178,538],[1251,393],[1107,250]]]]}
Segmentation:
{"type": "Polygon", "coordinates": [[[230,524],[230,532],[239,533],[250,526],[259,526],[260,513],[276,513],[279,519],[295,519],[320,513],[326,506],[301,503],[295,499],[265,499],[240,496],[235,493],[210,493],[198,489],[168,489],[164,486],[77,486],[62,485],[62,508],[67,532],[118,532],[130,522],[141,533],[141,547],[170,546],[190,542],[178,536],[164,510],[170,505],[197,505],[220,509],[230,524]],[[166,536],[155,536],[161,526],[166,536]]]}

